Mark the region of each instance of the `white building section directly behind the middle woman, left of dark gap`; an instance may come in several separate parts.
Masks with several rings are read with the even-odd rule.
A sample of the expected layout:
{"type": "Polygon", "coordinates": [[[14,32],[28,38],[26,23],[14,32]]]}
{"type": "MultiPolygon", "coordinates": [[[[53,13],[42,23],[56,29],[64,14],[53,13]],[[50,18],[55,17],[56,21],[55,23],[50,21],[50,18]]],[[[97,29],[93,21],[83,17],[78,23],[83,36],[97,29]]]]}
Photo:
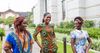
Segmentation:
{"type": "Polygon", "coordinates": [[[62,5],[60,0],[38,0],[33,10],[34,23],[42,23],[43,14],[45,12],[51,13],[51,22],[60,23],[62,21],[62,5]],[[60,3],[59,3],[60,2],[60,3]],[[45,5],[47,4],[47,5],[45,5]],[[59,16],[58,16],[59,15],[59,16]]]}

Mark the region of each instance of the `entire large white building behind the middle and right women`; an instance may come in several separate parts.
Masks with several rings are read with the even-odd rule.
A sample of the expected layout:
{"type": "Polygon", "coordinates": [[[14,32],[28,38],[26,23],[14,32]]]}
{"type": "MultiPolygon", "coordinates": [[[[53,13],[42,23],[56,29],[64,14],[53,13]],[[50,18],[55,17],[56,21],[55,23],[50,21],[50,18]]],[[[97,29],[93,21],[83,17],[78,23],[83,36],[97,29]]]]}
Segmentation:
{"type": "Polygon", "coordinates": [[[70,21],[77,16],[85,20],[100,21],[100,1],[99,0],[38,0],[34,9],[34,23],[42,22],[45,11],[52,15],[53,23],[70,21]],[[62,2],[63,1],[63,2],[62,2]],[[45,5],[47,4],[47,5],[45,5]],[[63,16],[65,13],[65,19],[63,16]]]}

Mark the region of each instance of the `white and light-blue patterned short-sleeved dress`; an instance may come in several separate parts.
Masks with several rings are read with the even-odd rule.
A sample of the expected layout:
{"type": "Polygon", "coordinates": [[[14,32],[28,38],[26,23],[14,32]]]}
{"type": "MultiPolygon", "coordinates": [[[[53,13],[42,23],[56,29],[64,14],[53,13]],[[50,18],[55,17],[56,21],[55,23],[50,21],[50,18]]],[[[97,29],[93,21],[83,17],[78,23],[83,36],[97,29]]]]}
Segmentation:
{"type": "Polygon", "coordinates": [[[86,53],[86,41],[88,38],[87,31],[84,30],[74,30],[71,32],[71,38],[75,40],[76,53],[86,53]]]}

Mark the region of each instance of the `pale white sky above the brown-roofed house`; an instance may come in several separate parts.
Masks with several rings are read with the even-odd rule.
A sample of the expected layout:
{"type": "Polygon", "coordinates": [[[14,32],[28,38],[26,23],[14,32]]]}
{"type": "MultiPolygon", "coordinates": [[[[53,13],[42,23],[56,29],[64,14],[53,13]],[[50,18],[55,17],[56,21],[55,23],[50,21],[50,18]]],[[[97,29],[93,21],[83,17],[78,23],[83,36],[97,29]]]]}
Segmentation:
{"type": "Polygon", "coordinates": [[[0,12],[12,9],[16,12],[31,11],[37,0],[0,0],[0,12]]]}

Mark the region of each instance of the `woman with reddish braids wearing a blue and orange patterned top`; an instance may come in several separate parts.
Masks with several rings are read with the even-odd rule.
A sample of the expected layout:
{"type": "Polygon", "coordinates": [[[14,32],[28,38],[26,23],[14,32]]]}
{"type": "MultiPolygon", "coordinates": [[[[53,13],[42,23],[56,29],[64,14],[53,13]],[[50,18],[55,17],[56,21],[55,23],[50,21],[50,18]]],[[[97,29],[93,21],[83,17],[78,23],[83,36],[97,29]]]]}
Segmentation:
{"type": "Polygon", "coordinates": [[[26,30],[27,20],[25,17],[17,17],[14,21],[15,31],[7,35],[4,43],[6,53],[31,53],[32,37],[26,30]]]}

